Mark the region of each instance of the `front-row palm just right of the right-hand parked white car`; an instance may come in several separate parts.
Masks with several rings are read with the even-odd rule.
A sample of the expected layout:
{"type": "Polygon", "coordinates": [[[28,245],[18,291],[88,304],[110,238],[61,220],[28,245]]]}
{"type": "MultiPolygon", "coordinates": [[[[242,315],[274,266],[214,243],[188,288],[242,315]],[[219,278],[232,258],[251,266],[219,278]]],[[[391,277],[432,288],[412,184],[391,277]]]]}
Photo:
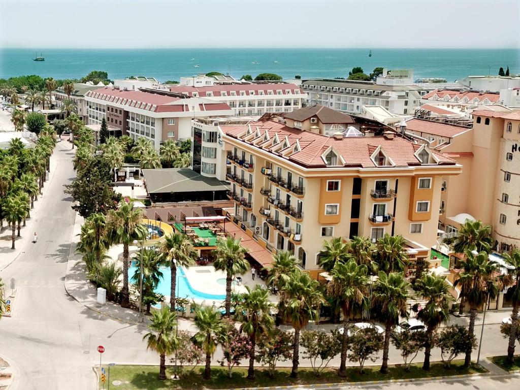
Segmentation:
{"type": "Polygon", "coordinates": [[[441,323],[446,323],[450,319],[448,303],[452,298],[448,289],[445,276],[423,274],[420,279],[415,281],[415,292],[426,300],[422,310],[417,313],[417,318],[426,325],[423,370],[430,369],[430,355],[435,330],[441,323]]]}

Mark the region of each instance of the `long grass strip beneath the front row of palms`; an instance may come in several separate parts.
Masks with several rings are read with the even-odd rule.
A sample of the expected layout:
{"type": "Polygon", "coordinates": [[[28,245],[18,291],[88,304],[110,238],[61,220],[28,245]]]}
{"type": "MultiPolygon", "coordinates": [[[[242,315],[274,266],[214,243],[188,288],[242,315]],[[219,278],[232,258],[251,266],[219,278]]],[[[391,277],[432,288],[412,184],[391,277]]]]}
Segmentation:
{"type": "MultiPolygon", "coordinates": [[[[473,373],[487,372],[482,367],[472,366],[469,369],[462,367],[463,360],[452,362],[450,369],[445,368],[442,363],[432,363],[430,371],[422,370],[422,363],[412,365],[410,371],[406,372],[401,365],[390,366],[387,375],[379,372],[380,367],[366,367],[364,374],[359,374],[357,367],[347,369],[347,378],[337,376],[337,369],[327,369],[321,376],[316,377],[310,368],[300,368],[300,379],[294,380],[290,378],[290,368],[279,368],[274,378],[267,375],[267,370],[258,368],[255,370],[256,379],[254,381],[246,378],[248,374],[247,367],[237,367],[233,369],[233,378],[227,377],[227,369],[225,367],[212,367],[212,379],[204,381],[202,372],[204,367],[197,367],[191,373],[180,375],[179,381],[167,379],[160,381],[158,366],[113,366],[110,369],[110,381],[118,380],[122,384],[118,390],[162,390],[162,389],[220,389],[220,388],[236,388],[236,387],[262,387],[262,386],[284,386],[298,384],[314,384],[314,383],[335,383],[335,382],[365,382],[365,381],[385,381],[391,379],[413,379],[413,378],[432,378],[434,376],[462,375],[473,373]]],[[[105,366],[108,372],[108,367],[105,366]]],[[[173,367],[167,367],[166,375],[170,378],[173,375],[173,367]]],[[[107,384],[105,384],[107,387],[107,384]]],[[[102,388],[102,386],[100,387],[102,388]]]]}

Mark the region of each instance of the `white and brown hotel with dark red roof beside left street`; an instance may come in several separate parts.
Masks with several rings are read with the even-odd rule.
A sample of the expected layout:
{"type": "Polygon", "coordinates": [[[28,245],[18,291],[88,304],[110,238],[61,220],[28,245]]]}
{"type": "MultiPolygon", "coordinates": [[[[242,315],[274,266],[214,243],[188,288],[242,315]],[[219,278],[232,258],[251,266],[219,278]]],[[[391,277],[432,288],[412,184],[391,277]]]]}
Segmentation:
{"type": "Polygon", "coordinates": [[[132,139],[145,137],[159,149],[167,139],[190,138],[191,120],[232,114],[225,103],[204,98],[171,96],[166,92],[145,92],[103,87],[85,94],[88,124],[107,124],[121,129],[132,139]]]}

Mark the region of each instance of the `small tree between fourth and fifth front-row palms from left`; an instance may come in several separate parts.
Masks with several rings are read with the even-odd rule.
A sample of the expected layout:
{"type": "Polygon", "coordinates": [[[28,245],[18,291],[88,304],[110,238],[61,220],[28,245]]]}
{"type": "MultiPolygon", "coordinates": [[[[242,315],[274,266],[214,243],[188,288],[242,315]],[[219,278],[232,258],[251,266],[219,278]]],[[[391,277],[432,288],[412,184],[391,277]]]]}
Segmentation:
{"type": "Polygon", "coordinates": [[[305,348],[303,357],[310,360],[316,376],[320,376],[329,362],[341,352],[341,342],[338,340],[338,335],[334,333],[306,331],[302,333],[300,344],[305,348]],[[321,360],[319,365],[318,358],[321,360]]]}

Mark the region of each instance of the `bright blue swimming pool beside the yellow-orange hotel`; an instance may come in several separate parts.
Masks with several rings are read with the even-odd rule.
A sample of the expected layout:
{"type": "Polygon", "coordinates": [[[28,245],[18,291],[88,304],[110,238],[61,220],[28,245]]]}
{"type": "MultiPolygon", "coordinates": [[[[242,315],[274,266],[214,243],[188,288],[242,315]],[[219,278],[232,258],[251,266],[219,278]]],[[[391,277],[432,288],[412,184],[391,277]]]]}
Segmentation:
{"type": "MultiPolygon", "coordinates": [[[[128,278],[131,283],[133,283],[132,276],[134,275],[134,272],[137,269],[136,264],[136,262],[132,262],[132,266],[128,269],[128,278]]],[[[172,283],[172,273],[170,267],[161,267],[161,272],[163,273],[163,278],[159,282],[159,285],[155,289],[155,292],[158,294],[163,294],[164,296],[170,296],[170,289],[172,283]]],[[[188,278],[186,277],[184,269],[181,267],[177,268],[176,290],[177,296],[187,298],[188,300],[194,299],[196,301],[224,301],[226,299],[226,294],[209,294],[194,289],[191,286],[188,278]]]]}

